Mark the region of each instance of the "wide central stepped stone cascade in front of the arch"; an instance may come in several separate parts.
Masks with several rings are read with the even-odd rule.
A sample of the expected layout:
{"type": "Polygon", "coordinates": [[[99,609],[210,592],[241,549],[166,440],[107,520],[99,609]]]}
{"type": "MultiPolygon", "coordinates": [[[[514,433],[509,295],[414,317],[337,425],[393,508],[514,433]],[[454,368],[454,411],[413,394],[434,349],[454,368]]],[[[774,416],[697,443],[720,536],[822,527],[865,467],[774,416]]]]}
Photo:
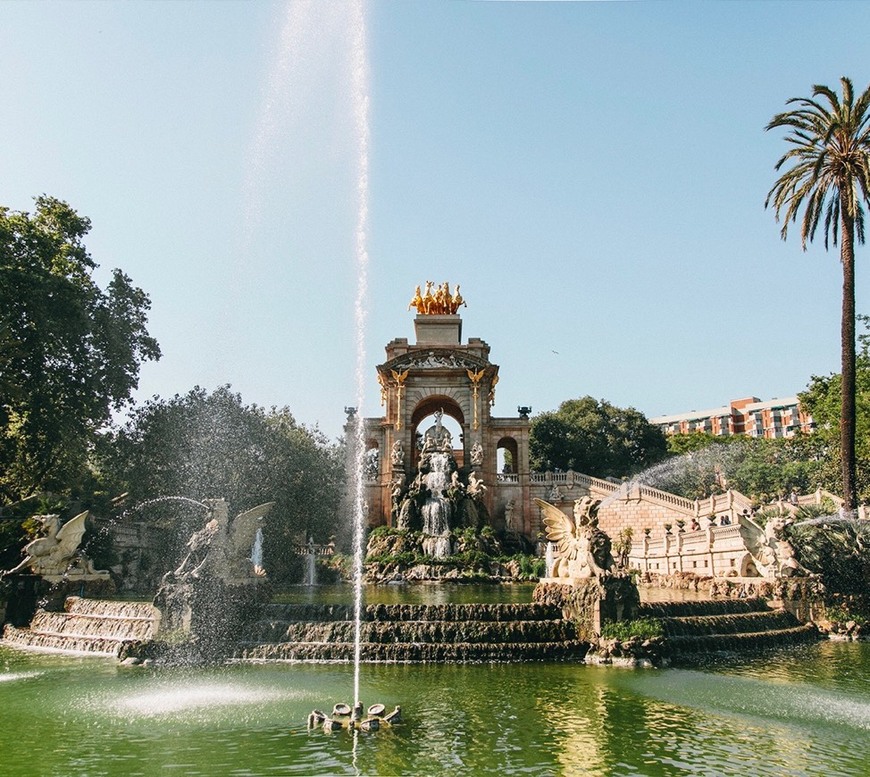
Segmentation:
{"type": "MultiPolygon", "coordinates": [[[[543,604],[368,605],[360,637],[365,662],[579,660],[589,647],[543,604]]],[[[268,605],[236,657],[353,661],[353,608],[268,605]]]]}

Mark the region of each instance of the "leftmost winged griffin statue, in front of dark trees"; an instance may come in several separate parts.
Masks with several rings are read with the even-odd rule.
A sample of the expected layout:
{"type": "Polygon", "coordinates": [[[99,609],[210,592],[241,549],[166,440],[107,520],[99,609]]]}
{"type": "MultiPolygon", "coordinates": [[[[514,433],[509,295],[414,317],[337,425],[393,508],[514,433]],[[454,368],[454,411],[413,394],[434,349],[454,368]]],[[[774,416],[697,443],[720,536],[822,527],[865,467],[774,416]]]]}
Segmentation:
{"type": "Polygon", "coordinates": [[[49,578],[63,575],[108,577],[108,572],[94,570],[91,560],[78,549],[85,534],[87,510],[64,524],[59,515],[34,517],[42,525],[44,536],[28,542],[21,563],[3,575],[12,575],[30,567],[33,574],[49,578]]]}

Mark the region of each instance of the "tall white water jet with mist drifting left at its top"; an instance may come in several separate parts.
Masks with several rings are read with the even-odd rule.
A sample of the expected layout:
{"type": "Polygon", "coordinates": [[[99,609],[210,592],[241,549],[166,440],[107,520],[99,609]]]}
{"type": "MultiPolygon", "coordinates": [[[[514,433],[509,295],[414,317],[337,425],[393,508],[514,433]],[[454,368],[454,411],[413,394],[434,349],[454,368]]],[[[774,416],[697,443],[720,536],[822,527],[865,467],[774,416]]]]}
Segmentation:
{"type": "MultiPolygon", "coordinates": [[[[357,624],[362,615],[362,561],[365,534],[364,479],[362,464],[365,453],[364,425],[354,418],[364,406],[364,382],[367,376],[365,333],[368,290],[368,181],[369,181],[369,76],[366,44],[366,8],[364,0],[347,3],[322,3],[316,0],[288,2],[282,11],[276,56],[273,60],[258,125],[253,138],[250,164],[245,182],[246,244],[259,234],[259,221],[269,204],[266,185],[276,182],[275,162],[289,164],[281,181],[301,176],[305,166],[299,159],[310,159],[312,149],[328,150],[324,170],[330,172],[335,150],[348,152],[353,199],[353,254],[356,277],[354,302],[355,330],[355,399],[354,414],[348,421],[347,443],[352,471],[349,473],[350,513],[353,523],[354,609],[357,624]],[[328,79],[328,82],[327,82],[328,79]],[[324,97],[327,87],[339,82],[336,106],[324,97]],[[332,108],[339,111],[333,113],[332,108]],[[348,110],[349,109],[349,110],[348,110]],[[345,118],[349,122],[345,124],[345,118]],[[349,143],[347,142],[349,141],[349,143]],[[301,143],[303,153],[282,156],[294,142],[301,143]]],[[[344,169],[342,170],[344,172],[344,169]]],[[[323,173],[323,174],[320,174],[323,173]]],[[[294,191],[304,191],[305,186],[294,191]]],[[[345,186],[342,179],[336,186],[345,186]]],[[[293,188],[293,187],[290,187],[293,188]]],[[[283,191],[283,190],[282,190],[283,191]]],[[[336,191],[343,194],[344,189],[336,191]]],[[[273,198],[274,199],[274,198],[273,198]]],[[[333,198],[334,199],[334,198],[333,198]]],[[[285,207],[285,203],[281,203],[285,207]]],[[[335,233],[335,213],[330,211],[330,233],[335,233]]],[[[251,252],[245,251],[248,256],[251,252]]],[[[359,699],[359,627],[357,627],[354,669],[354,703],[359,699]]]]}

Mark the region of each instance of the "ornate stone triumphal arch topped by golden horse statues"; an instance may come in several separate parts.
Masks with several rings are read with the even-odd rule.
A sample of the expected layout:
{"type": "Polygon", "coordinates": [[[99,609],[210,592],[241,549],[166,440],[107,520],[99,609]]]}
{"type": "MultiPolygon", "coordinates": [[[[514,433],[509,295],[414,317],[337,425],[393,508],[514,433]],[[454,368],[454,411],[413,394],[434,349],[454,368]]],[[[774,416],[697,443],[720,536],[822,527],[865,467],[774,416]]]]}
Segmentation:
{"type": "Polygon", "coordinates": [[[488,525],[534,540],[539,511],[529,489],[530,410],[518,408],[515,418],[490,414],[499,368],[483,340],[462,341],[463,306],[458,285],[452,291],[448,283],[418,286],[408,306],[416,311],[416,341],[394,339],[377,366],[384,415],[364,419],[369,525],[413,528],[403,507],[412,498],[422,505],[437,496],[437,450],[450,459],[443,497],[457,507],[451,529],[488,525]],[[446,433],[447,419],[458,435],[446,433]]]}

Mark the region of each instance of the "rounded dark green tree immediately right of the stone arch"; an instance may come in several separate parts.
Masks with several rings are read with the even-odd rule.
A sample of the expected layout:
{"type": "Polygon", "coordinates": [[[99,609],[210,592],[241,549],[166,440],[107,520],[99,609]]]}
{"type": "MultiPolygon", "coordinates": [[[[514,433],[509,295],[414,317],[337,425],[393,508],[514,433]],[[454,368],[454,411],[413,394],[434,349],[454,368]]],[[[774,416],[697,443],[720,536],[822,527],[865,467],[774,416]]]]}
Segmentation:
{"type": "Polygon", "coordinates": [[[640,411],[587,396],[536,416],[529,450],[533,469],[607,477],[638,472],[663,459],[667,447],[661,430],[640,411]]]}

